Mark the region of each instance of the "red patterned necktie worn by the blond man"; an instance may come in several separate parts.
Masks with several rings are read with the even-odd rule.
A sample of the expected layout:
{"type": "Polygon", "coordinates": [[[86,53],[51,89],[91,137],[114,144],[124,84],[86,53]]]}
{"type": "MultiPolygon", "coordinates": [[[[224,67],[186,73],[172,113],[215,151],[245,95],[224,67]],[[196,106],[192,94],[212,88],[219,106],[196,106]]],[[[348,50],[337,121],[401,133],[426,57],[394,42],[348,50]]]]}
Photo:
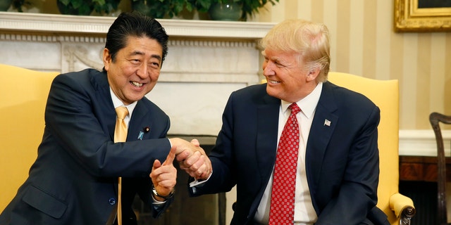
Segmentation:
{"type": "Polygon", "coordinates": [[[293,224],[295,219],[295,187],[297,170],[297,152],[299,150],[299,124],[296,114],[301,111],[292,103],[285,127],[280,136],[274,167],[273,188],[269,225],[293,224]]]}

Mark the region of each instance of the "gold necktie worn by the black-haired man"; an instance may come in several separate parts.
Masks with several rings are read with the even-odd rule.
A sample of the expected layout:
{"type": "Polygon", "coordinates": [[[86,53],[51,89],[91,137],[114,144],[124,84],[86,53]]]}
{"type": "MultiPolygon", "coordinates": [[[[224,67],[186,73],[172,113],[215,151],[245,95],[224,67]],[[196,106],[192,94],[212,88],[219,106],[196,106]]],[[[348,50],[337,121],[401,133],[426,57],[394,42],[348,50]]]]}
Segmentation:
{"type": "MultiPolygon", "coordinates": [[[[125,142],[127,139],[127,124],[124,118],[128,115],[128,110],[125,106],[116,108],[116,128],[114,129],[114,142],[125,142]]],[[[118,225],[122,225],[122,177],[118,178],[118,225]]]]}

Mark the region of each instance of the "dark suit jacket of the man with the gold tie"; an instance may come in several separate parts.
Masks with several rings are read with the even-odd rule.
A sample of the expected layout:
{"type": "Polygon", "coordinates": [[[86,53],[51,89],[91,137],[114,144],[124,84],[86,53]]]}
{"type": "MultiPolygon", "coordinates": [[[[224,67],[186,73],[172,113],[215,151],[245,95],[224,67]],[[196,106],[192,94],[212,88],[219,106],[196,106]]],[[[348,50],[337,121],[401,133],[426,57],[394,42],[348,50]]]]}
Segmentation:
{"type": "MultiPolygon", "coordinates": [[[[152,163],[163,162],[171,149],[165,138],[169,118],[154,103],[138,101],[127,142],[113,143],[116,112],[106,73],[70,72],[51,84],[45,123],[37,160],[0,224],[105,224],[116,207],[118,176],[123,177],[124,224],[135,223],[136,193],[152,206],[152,163]]],[[[168,205],[154,209],[154,216],[168,205]]]]}

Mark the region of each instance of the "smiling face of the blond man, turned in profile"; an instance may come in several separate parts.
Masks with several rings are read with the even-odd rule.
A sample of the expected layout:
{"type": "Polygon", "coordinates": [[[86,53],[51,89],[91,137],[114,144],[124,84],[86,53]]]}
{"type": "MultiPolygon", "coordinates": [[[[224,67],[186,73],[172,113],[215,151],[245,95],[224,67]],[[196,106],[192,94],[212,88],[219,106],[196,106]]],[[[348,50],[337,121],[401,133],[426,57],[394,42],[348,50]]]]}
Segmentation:
{"type": "Polygon", "coordinates": [[[319,69],[305,69],[298,53],[265,49],[262,54],[266,92],[270,96],[294,103],[309,95],[318,84],[319,69]]]}

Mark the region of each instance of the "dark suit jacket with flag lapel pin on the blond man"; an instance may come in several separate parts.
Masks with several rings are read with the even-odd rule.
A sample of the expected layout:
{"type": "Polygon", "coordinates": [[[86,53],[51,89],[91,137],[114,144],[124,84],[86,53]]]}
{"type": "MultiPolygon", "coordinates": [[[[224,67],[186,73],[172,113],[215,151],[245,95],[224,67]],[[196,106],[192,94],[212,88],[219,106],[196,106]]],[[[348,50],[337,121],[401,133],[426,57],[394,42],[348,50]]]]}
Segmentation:
{"type": "MultiPolygon", "coordinates": [[[[237,185],[232,224],[253,223],[276,162],[279,108],[280,99],[266,94],[266,84],[231,94],[209,155],[213,174],[203,186],[190,188],[197,196],[237,185]]],[[[362,94],[323,84],[306,149],[316,224],[360,224],[366,217],[388,223],[376,207],[379,113],[362,94]]]]}

